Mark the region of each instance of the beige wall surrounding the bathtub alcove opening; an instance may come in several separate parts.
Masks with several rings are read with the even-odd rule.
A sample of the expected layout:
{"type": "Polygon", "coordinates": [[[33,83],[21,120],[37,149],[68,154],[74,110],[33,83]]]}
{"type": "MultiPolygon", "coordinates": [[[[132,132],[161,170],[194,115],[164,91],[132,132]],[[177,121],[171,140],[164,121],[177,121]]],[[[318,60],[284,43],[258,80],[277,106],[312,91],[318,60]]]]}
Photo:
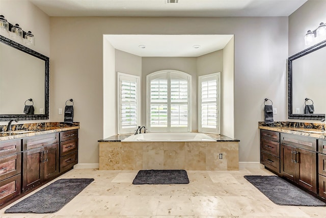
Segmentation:
{"type": "MultiPolygon", "coordinates": [[[[50,20],[51,72],[55,75],[51,77],[51,93],[55,95],[51,105],[57,108],[66,99],[74,98],[75,120],[81,125],[81,163],[98,162],[97,140],[103,137],[103,34],[234,34],[234,137],[240,139],[240,161],[259,161],[257,126],[263,120],[264,98],[273,99],[278,108],[275,120],[286,117],[287,17],[51,17],[50,20]],[[74,79],[72,86],[65,78],[74,79]]],[[[51,117],[60,118],[54,112],[51,117]]]]}

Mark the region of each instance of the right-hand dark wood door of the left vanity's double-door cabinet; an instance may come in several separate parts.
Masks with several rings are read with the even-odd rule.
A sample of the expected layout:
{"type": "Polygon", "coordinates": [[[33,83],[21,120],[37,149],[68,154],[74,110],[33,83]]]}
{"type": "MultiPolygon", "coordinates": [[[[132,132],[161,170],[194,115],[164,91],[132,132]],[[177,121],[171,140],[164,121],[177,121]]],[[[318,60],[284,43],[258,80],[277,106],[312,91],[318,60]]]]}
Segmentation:
{"type": "Polygon", "coordinates": [[[59,143],[44,147],[44,180],[59,174],[59,143]]]}

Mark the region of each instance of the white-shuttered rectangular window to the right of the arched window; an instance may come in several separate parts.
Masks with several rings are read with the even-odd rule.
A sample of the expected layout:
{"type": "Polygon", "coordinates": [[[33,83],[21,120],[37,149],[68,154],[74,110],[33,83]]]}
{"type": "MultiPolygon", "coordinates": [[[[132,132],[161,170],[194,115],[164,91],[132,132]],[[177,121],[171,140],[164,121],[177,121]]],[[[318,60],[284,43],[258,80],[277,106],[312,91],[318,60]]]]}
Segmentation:
{"type": "Polygon", "coordinates": [[[198,131],[220,134],[221,73],[198,77],[198,131]]]}

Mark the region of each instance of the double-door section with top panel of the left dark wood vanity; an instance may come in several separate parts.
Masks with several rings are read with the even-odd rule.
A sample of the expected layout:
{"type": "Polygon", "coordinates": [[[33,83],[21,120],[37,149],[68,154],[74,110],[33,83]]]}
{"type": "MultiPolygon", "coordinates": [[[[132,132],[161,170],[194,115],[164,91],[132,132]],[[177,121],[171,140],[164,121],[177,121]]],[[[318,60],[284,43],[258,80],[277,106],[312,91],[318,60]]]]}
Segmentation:
{"type": "Polygon", "coordinates": [[[22,191],[25,192],[59,174],[59,134],[32,136],[22,141],[22,191]]]}

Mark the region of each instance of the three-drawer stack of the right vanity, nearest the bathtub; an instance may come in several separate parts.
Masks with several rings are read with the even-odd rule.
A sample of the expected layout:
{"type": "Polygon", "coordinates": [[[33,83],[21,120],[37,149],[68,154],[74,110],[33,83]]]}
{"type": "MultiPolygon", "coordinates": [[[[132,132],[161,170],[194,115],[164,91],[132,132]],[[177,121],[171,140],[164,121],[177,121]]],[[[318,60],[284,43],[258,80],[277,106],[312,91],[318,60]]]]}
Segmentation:
{"type": "Polygon", "coordinates": [[[260,163],[280,173],[280,133],[260,130],[260,163]]]}

